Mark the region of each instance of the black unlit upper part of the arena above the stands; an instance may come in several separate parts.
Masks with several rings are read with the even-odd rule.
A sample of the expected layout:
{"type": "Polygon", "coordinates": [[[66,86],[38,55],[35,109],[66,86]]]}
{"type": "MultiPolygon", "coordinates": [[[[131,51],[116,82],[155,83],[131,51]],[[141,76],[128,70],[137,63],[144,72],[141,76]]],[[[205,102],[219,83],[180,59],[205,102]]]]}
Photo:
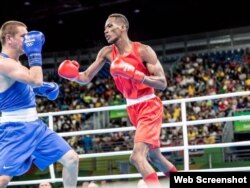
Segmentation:
{"type": "Polygon", "coordinates": [[[29,30],[45,33],[45,51],[105,44],[109,14],[130,21],[132,40],[152,40],[250,24],[249,1],[209,0],[5,0],[0,23],[24,21],[29,30]]]}

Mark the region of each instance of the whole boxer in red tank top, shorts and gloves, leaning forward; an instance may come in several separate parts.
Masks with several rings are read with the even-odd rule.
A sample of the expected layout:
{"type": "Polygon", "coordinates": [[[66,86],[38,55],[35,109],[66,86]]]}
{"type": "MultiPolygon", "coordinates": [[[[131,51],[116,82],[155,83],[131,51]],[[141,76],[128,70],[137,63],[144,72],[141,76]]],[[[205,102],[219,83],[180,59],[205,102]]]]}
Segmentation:
{"type": "Polygon", "coordinates": [[[129,118],[136,127],[130,162],[148,187],[160,188],[158,176],[150,163],[166,176],[176,171],[160,152],[163,104],[154,93],[155,89],[167,87],[166,77],[155,51],[150,46],[131,41],[128,29],[129,23],[124,15],[111,14],[104,29],[110,45],[99,51],[95,61],[84,72],[79,72],[76,61],[65,60],[60,64],[58,74],[87,84],[107,61],[111,62],[110,73],[117,89],[126,98],[129,118]]]}

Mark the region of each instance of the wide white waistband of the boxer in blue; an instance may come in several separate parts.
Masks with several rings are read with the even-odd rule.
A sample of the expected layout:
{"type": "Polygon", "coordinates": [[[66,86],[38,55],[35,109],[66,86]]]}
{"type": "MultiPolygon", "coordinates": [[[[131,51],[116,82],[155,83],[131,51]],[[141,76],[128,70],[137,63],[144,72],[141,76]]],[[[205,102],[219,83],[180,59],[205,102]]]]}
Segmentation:
{"type": "Polygon", "coordinates": [[[1,123],[35,121],[38,119],[36,108],[27,108],[12,112],[2,112],[1,123]]]}

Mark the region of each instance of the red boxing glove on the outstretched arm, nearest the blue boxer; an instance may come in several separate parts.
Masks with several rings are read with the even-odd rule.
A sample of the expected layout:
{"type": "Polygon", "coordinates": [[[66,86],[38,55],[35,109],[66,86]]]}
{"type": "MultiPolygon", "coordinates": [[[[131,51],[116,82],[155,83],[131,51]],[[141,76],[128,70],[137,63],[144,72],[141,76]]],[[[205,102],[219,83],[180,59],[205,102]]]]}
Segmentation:
{"type": "Polygon", "coordinates": [[[58,67],[58,74],[63,78],[74,81],[79,77],[79,67],[77,61],[64,60],[58,67]]]}

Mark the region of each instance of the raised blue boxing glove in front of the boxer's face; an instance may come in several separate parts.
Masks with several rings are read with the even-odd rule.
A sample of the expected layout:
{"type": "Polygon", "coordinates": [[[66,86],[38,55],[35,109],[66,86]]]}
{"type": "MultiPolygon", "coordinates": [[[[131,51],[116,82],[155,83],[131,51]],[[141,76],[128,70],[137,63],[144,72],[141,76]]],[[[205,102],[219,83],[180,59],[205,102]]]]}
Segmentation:
{"type": "Polygon", "coordinates": [[[29,66],[42,66],[42,47],[45,37],[40,31],[30,31],[24,35],[23,50],[28,56],[29,66]]]}

